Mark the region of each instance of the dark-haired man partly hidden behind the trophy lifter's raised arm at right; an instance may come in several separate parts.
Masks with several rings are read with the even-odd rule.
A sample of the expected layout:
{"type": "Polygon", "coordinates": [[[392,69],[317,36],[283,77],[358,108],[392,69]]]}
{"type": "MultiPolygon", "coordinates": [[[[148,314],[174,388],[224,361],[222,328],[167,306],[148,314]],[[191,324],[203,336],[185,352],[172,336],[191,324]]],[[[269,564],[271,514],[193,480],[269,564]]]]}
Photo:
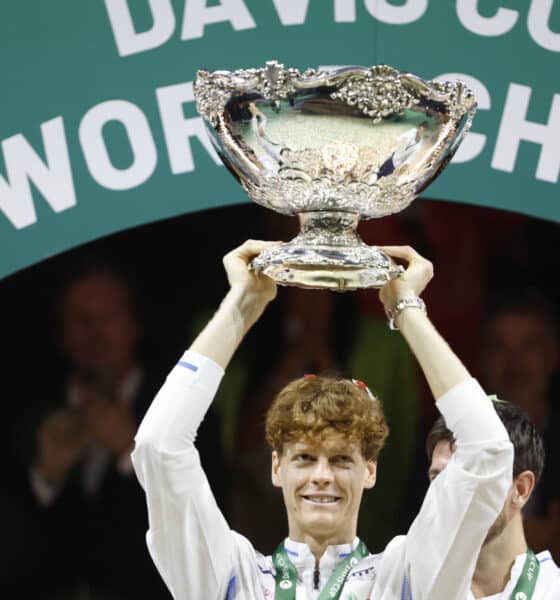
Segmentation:
{"type": "MultiPolygon", "coordinates": [[[[513,482],[502,512],[490,528],[473,574],[472,598],[486,600],[556,600],[560,598],[560,571],[548,551],[535,555],[527,546],[523,530],[523,507],[542,473],[542,439],[523,411],[506,402],[494,407],[514,447],[513,482]]],[[[447,478],[453,461],[455,439],[440,417],[426,441],[430,480],[447,478]]]]}

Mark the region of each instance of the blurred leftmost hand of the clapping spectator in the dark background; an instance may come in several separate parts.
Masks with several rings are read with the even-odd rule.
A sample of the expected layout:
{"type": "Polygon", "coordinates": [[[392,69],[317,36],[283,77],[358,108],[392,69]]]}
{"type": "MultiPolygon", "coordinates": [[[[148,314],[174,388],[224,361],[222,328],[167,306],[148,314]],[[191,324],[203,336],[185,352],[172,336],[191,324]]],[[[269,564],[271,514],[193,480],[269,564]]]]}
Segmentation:
{"type": "Polygon", "coordinates": [[[38,472],[47,481],[60,483],[79,459],[87,436],[78,415],[57,411],[39,427],[37,442],[38,472]]]}

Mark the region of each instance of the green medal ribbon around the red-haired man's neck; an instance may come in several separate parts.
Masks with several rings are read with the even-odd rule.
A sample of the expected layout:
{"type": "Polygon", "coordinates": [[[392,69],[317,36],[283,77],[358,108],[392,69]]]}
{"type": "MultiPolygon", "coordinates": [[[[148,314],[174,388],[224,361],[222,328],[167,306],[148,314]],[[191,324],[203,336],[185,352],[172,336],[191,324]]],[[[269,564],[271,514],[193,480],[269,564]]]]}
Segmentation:
{"type": "MultiPolygon", "coordinates": [[[[346,583],[348,573],[354,565],[362,558],[369,555],[366,545],[360,540],[356,549],[347,556],[333,571],[327,584],[319,594],[318,600],[338,600],[342,593],[342,588],[346,583]]],[[[288,553],[284,549],[284,542],[276,548],[272,555],[272,562],[276,569],[276,591],[275,600],[295,600],[297,571],[290,560],[288,553]]],[[[538,564],[538,563],[537,563],[538,564]]]]}

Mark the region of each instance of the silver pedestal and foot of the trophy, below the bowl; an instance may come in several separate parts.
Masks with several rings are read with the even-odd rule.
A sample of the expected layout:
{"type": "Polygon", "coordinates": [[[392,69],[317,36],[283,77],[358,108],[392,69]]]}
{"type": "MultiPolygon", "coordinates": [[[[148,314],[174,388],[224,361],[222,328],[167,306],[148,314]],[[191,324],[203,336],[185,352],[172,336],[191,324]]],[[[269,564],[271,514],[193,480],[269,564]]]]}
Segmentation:
{"type": "Polygon", "coordinates": [[[299,214],[302,231],[261,252],[251,268],[281,285],[345,292],[382,287],[403,268],[356,233],[359,215],[331,211],[299,214]]]}

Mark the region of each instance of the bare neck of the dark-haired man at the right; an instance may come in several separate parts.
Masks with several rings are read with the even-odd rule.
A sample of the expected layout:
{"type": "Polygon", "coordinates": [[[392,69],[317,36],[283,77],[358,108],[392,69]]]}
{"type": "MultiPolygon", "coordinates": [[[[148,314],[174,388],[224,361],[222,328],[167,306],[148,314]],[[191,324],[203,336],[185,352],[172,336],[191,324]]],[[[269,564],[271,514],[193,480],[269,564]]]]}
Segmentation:
{"type": "Polygon", "coordinates": [[[502,592],[515,558],[524,552],[527,552],[527,542],[521,514],[518,514],[498,537],[482,547],[471,583],[474,597],[484,598],[502,592]]]}

